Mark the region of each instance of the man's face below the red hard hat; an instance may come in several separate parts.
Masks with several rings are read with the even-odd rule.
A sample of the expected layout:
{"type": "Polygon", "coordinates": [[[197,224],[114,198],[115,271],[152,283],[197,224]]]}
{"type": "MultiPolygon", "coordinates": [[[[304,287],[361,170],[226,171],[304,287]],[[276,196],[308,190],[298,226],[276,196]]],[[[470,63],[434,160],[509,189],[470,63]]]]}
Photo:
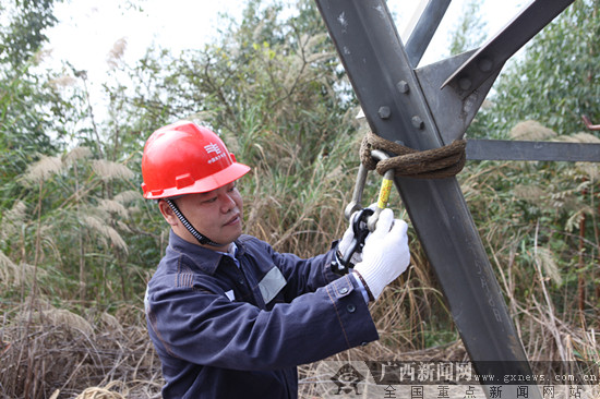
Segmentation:
{"type": "MultiPolygon", "coordinates": [[[[226,252],[242,233],[243,202],[236,182],[207,193],[183,195],[175,202],[197,231],[224,244],[211,249],[226,252]]],[[[173,231],[184,240],[197,243],[181,223],[173,226],[173,231]]]]}

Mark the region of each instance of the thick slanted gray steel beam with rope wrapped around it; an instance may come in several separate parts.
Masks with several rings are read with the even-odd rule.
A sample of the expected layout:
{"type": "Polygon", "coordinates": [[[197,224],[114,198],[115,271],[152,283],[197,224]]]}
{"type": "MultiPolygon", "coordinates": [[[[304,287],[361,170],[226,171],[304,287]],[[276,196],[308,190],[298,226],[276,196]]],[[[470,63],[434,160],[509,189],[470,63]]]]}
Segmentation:
{"type": "MultiPolygon", "coordinates": [[[[385,0],[316,3],[372,131],[416,149],[442,146],[385,0]]],[[[397,178],[395,184],[476,371],[530,375],[457,180],[397,178]]],[[[541,398],[537,388],[529,394],[541,398]]]]}

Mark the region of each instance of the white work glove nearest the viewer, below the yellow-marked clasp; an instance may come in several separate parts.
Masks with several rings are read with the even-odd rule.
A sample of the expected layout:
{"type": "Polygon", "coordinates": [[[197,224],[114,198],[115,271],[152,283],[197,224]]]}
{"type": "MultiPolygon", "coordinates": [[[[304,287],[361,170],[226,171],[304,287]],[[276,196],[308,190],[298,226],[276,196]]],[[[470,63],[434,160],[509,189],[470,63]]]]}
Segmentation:
{"type": "Polygon", "coordinates": [[[400,219],[394,220],[394,213],[386,208],[380,215],[375,231],[365,240],[362,262],[355,266],[355,270],[362,276],[375,300],[410,263],[407,230],[408,225],[400,219]]]}

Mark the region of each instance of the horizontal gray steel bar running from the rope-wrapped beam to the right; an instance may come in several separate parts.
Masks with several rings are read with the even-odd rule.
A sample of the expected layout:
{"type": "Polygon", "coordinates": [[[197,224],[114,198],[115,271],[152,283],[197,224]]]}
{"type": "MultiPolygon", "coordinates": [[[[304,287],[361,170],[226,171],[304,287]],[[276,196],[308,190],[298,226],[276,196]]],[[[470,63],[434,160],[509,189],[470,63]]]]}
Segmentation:
{"type": "Polygon", "coordinates": [[[595,143],[468,140],[466,150],[470,160],[600,162],[600,144],[595,143]]]}

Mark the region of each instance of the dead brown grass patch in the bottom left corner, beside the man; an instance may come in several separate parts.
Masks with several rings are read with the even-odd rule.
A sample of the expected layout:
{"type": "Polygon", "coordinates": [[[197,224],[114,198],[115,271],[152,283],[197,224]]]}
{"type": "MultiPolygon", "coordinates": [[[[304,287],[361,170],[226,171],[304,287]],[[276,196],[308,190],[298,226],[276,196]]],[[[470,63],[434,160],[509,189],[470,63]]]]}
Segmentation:
{"type": "Polygon", "coordinates": [[[0,398],[160,397],[142,310],[83,317],[35,301],[4,311],[0,398]]]}

